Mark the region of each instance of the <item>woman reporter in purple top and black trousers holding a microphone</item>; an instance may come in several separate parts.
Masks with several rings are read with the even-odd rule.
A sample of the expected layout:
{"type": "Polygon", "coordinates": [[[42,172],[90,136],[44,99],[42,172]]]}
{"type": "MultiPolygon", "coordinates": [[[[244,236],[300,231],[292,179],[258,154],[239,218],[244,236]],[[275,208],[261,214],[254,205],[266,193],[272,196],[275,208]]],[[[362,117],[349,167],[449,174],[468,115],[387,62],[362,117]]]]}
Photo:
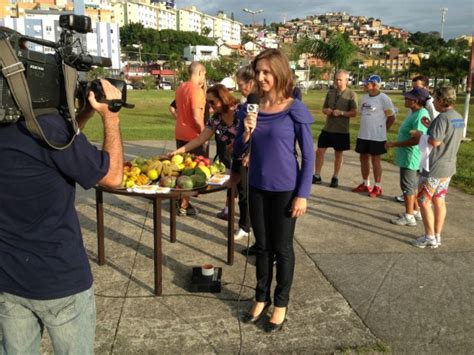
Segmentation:
{"type": "Polygon", "coordinates": [[[306,106],[292,98],[293,76],[286,56],[276,49],[261,52],[253,62],[260,111],[248,113],[239,126],[235,154],[250,149],[250,220],[257,244],[255,302],[243,321],[256,322],[271,305],[273,260],[276,258],[274,308],[265,331],[280,330],[293,282],[296,218],[306,212],[314,162],[306,106]],[[257,123],[258,122],[258,123],[257,123]],[[296,142],[301,150],[297,160],[296,142]]]}

